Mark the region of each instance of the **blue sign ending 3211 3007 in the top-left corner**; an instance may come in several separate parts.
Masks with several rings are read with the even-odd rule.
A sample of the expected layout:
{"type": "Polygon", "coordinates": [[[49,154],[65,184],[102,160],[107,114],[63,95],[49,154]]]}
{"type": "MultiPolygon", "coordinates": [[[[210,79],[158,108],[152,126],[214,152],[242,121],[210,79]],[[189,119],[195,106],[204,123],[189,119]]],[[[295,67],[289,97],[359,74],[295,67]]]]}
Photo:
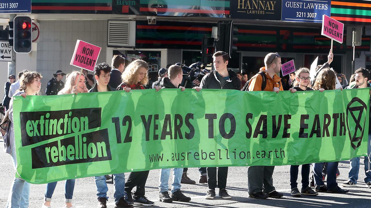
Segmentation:
{"type": "Polygon", "coordinates": [[[31,13],[31,0],[1,0],[0,13],[31,13]]]}

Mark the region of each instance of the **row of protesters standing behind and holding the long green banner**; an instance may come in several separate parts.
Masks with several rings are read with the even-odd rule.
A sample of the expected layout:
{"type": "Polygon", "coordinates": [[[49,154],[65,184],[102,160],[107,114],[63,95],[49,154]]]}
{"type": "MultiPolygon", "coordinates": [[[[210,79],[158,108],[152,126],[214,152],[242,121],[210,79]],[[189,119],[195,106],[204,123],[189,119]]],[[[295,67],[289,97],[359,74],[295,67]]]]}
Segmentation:
{"type": "MultiPolygon", "coordinates": [[[[335,90],[336,74],[330,70],[329,64],[333,60],[332,51],[328,55],[328,61],[317,67],[317,76],[313,84],[309,76],[309,69],[302,67],[290,75],[293,81],[292,87],[288,90],[291,93],[296,91],[312,91],[319,90],[335,90]]],[[[199,86],[193,87],[195,91],[202,89],[230,89],[230,90],[244,90],[244,91],[273,91],[279,93],[283,91],[281,78],[278,76],[282,66],[281,57],[278,53],[269,53],[264,59],[265,66],[260,69],[260,72],[248,80],[246,73],[236,73],[227,68],[229,63],[229,55],[223,51],[217,51],[213,55],[213,66],[215,70],[207,73],[201,80],[199,86]]],[[[94,82],[89,82],[89,75],[85,71],[82,76],[79,71],[73,71],[66,76],[66,84],[62,82],[65,75],[62,71],[57,71],[54,74],[46,90],[46,94],[80,94],[92,92],[106,92],[124,90],[130,93],[131,90],[145,89],[148,84],[148,64],[143,60],[132,61],[125,67],[125,59],[121,56],[114,56],[112,58],[111,66],[107,63],[100,63],[95,66],[94,82]],[[112,67],[111,67],[112,66],[112,67]]],[[[178,65],[171,65],[168,69],[160,69],[158,72],[158,81],[152,84],[152,88],[160,91],[162,88],[180,88],[184,91],[184,87],[180,84],[183,80],[183,70],[178,65]]],[[[339,75],[339,74],[338,74],[339,75]]],[[[28,95],[40,95],[41,88],[41,74],[36,71],[22,71],[18,75],[19,80],[14,83],[15,76],[9,76],[9,83],[5,85],[6,96],[9,99],[9,106],[6,102],[6,109],[9,111],[9,135],[8,140],[4,143],[9,144],[6,152],[11,155],[14,170],[17,167],[17,157],[14,138],[14,125],[13,125],[13,100],[12,96],[21,95],[26,98],[28,95]],[[14,87],[12,88],[12,86],[14,87]]],[[[338,76],[345,78],[344,76],[338,76]]],[[[366,88],[371,87],[369,83],[370,72],[365,68],[359,68],[352,76],[354,81],[349,83],[349,88],[366,88]]],[[[371,128],[368,132],[368,157],[364,157],[365,164],[365,183],[368,188],[371,188],[371,171],[370,171],[370,154],[371,154],[371,128]]],[[[301,167],[302,186],[298,189],[298,172],[299,165],[291,165],[290,167],[290,186],[291,195],[299,197],[301,195],[316,196],[318,192],[329,193],[347,193],[349,190],[339,187],[336,182],[338,162],[318,162],[312,165],[304,164],[301,167]],[[325,168],[324,168],[325,167],[325,168]],[[324,169],[327,175],[327,185],[324,184],[324,169]],[[312,172],[312,177],[310,173],[312,172]],[[313,178],[313,182],[309,182],[313,178]]],[[[248,193],[249,197],[257,199],[265,198],[279,198],[283,194],[276,191],[273,185],[273,172],[274,166],[252,166],[248,168],[248,193]]],[[[205,199],[214,199],[216,197],[216,188],[218,188],[218,196],[224,199],[230,199],[232,196],[226,190],[228,167],[207,167],[198,168],[200,172],[199,183],[206,183],[209,190],[205,193],[205,199]]],[[[159,195],[160,202],[170,203],[172,201],[190,201],[191,198],[184,195],[181,191],[181,184],[195,184],[196,181],[187,177],[187,168],[174,168],[173,169],[173,184],[171,193],[169,194],[169,177],[170,169],[161,169],[159,179],[159,195]]],[[[355,187],[357,186],[359,171],[359,158],[351,159],[351,167],[349,169],[349,180],[341,184],[342,187],[355,187]]],[[[114,201],[115,208],[131,208],[133,205],[151,206],[155,203],[145,197],[145,184],[148,178],[149,171],[131,172],[125,181],[124,173],[113,174],[114,181],[114,201]],[[133,188],[135,191],[132,192],[133,188]]],[[[107,191],[108,186],[106,179],[110,176],[96,176],[96,195],[98,199],[98,208],[106,208],[108,199],[107,191]]],[[[45,202],[41,205],[42,208],[50,208],[52,195],[57,182],[47,184],[45,190],[45,202]]],[[[71,208],[72,197],[74,191],[75,179],[65,181],[65,208],[71,208]]],[[[30,184],[22,178],[14,178],[12,186],[10,187],[7,208],[26,208],[29,205],[29,192],[30,184]]]]}

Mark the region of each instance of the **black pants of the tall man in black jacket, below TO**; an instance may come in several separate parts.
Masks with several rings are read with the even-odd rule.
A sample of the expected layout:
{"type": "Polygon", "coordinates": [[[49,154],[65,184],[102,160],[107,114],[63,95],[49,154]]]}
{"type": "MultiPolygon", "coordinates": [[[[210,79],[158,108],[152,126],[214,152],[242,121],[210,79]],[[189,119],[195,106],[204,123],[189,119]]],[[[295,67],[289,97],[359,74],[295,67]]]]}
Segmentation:
{"type": "Polygon", "coordinates": [[[218,168],[218,182],[216,181],[216,167],[208,167],[206,168],[206,172],[207,172],[207,186],[210,189],[215,189],[217,184],[219,189],[226,188],[228,167],[218,168]]]}

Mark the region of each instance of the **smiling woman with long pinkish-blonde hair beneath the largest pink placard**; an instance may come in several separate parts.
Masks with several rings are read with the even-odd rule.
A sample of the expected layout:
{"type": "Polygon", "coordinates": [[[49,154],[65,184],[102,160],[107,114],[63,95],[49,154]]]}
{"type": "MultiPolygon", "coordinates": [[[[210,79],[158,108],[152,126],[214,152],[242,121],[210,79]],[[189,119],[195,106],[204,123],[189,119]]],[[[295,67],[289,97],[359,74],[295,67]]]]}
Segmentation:
{"type": "MultiPolygon", "coordinates": [[[[67,74],[66,77],[66,85],[59,91],[59,95],[62,94],[71,94],[71,93],[87,93],[88,88],[85,85],[85,77],[83,75],[80,76],[80,80],[78,80],[80,73],[78,71],[72,71],[71,73],[67,74]]],[[[52,195],[54,193],[54,189],[57,185],[57,182],[51,182],[46,185],[45,190],[45,202],[41,208],[50,208],[50,202],[52,201],[52,195]]],[[[73,189],[75,188],[75,179],[68,179],[65,182],[65,198],[66,198],[66,205],[64,208],[73,208],[72,206],[72,196],[73,196],[73,189]]]]}

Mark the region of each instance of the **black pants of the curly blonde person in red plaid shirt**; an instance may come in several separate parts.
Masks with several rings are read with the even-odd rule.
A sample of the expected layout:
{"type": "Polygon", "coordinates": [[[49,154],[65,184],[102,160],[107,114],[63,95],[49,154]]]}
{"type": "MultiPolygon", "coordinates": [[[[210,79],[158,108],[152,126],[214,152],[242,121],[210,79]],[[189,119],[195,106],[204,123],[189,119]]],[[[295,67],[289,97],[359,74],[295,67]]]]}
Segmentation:
{"type": "Polygon", "coordinates": [[[147,182],[148,173],[150,173],[150,171],[131,172],[128,176],[128,180],[125,182],[125,191],[131,192],[131,190],[136,186],[137,190],[133,193],[133,197],[144,197],[144,187],[145,182],[147,182]]]}

